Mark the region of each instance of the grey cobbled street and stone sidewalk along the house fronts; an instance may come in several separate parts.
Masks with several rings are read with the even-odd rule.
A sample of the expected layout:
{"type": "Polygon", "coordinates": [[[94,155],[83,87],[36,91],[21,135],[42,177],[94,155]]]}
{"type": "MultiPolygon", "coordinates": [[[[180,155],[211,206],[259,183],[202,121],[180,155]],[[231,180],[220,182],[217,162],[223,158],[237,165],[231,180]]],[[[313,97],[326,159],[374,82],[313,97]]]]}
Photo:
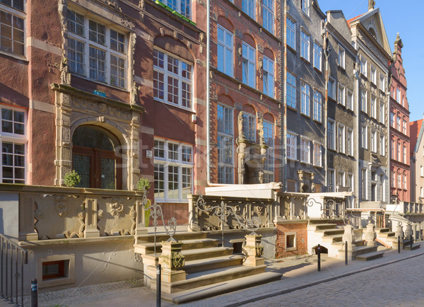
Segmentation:
{"type": "MultiPolygon", "coordinates": [[[[401,254],[397,250],[387,250],[380,259],[369,262],[353,261],[347,266],[343,260],[322,255],[322,272],[317,272],[316,259],[317,256],[305,255],[267,261],[267,270],[283,273],[280,281],[180,306],[240,306],[253,302],[256,306],[258,303],[259,306],[376,306],[392,302],[407,306],[424,305],[423,286],[420,282],[420,277],[424,274],[423,248],[402,250],[401,254]],[[352,292],[351,289],[360,291],[352,292]],[[378,293],[382,294],[378,299],[369,300],[373,294],[378,293]],[[397,296],[399,299],[396,299],[397,296]],[[332,300],[326,301],[329,298],[332,300]],[[413,301],[408,301],[409,298],[413,301]]],[[[24,302],[25,306],[30,306],[30,297],[25,297],[24,302]]],[[[45,293],[40,291],[39,294],[39,306],[155,305],[155,292],[138,280],[45,293]]],[[[162,301],[162,306],[171,305],[170,302],[162,301]]],[[[0,306],[10,305],[0,301],[0,306]]]]}

